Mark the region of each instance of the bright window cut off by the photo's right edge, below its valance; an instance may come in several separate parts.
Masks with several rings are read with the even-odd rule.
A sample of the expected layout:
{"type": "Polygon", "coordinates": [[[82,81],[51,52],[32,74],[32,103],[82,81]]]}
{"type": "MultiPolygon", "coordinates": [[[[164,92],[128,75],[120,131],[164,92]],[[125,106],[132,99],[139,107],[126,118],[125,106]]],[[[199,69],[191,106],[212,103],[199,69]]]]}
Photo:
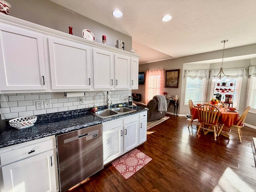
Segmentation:
{"type": "Polygon", "coordinates": [[[251,106],[250,112],[256,113],[256,77],[251,76],[250,88],[248,92],[248,106],[251,106]]]}

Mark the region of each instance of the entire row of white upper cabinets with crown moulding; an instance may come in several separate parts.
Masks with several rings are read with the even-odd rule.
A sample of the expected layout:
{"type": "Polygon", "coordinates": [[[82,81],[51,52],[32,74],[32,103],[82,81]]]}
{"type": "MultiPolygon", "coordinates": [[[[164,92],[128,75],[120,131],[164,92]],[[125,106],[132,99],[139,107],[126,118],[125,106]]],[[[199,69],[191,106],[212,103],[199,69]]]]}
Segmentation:
{"type": "Polygon", "coordinates": [[[138,89],[134,53],[0,14],[0,93],[138,89]]]}

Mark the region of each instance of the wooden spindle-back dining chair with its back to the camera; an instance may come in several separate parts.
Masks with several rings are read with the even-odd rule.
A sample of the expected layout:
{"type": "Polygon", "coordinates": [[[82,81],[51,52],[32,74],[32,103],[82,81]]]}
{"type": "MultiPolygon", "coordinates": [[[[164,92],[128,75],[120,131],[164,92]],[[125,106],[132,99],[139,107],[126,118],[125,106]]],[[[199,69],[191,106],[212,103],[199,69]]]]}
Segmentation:
{"type": "Polygon", "coordinates": [[[198,135],[200,129],[207,130],[207,132],[214,132],[214,141],[216,141],[216,132],[218,132],[220,110],[211,104],[202,104],[198,107],[198,122],[200,123],[196,134],[198,135]]]}

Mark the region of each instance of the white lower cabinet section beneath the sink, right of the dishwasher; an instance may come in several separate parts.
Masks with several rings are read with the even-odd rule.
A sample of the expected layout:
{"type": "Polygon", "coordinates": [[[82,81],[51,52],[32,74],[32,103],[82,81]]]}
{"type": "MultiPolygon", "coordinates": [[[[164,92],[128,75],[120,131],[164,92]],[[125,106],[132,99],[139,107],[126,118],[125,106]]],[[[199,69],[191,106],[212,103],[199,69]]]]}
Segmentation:
{"type": "MultiPolygon", "coordinates": [[[[140,114],[141,113],[138,113],[102,123],[104,164],[111,162],[146,141],[144,118],[142,119],[142,122],[144,122],[143,128],[139,130],[140,114]],[[143,139],[140,140],[140,138],[143,139]]],[[[144,112],[143,114],[147,113],[144,112]]],[[[145,120],[147,120],[147,118],[145,120]]]]}

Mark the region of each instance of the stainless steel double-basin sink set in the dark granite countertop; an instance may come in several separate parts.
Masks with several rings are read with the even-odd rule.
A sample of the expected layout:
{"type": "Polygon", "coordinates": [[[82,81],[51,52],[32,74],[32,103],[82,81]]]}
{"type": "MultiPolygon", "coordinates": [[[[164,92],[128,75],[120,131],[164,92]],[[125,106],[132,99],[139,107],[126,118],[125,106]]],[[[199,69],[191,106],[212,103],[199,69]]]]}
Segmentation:
{"type": "Polygon", "coordinates": [[[105,110],[102,110],[102,111],[97,111],[97,112],[92,113],[92,114],[104,119],[104,118],[109,118],[109,117],[112,117],[112,116],[122,115],[122,114],[130,113],[130,112],[134,112],[134,111],[136,111],[136,110],[126,108],[126,107],[118,107],[118,108],[112,108],[112,109],[105,109],[105,110]]]}

